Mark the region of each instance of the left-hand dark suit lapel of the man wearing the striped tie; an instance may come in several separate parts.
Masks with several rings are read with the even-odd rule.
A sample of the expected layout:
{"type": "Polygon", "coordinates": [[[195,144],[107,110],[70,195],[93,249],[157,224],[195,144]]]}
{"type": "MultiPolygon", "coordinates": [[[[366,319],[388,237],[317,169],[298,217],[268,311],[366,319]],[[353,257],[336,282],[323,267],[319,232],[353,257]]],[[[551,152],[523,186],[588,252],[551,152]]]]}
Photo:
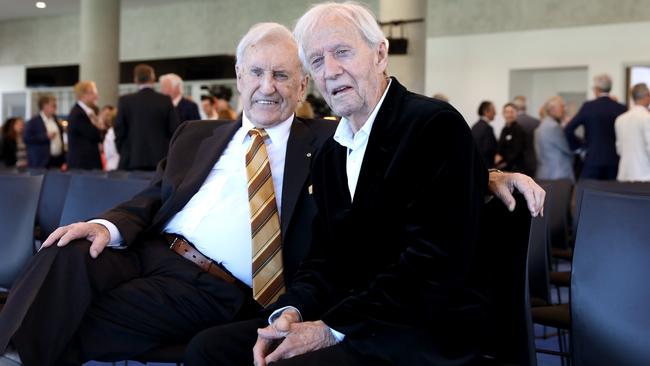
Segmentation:
{"type": "Polygon", "coordinates": [[[172,200],[173,204],[170,205],[167,212],[177,212],[198,192],[208,174],[210,174],[210,170],[217,163],[217,160],[219,160],[233,135],[240,127],[241,121],[224,124],[220,128],[215,128],[212,136],[201,142],[196,152],[196,159],[178,185],[172,200]]]}

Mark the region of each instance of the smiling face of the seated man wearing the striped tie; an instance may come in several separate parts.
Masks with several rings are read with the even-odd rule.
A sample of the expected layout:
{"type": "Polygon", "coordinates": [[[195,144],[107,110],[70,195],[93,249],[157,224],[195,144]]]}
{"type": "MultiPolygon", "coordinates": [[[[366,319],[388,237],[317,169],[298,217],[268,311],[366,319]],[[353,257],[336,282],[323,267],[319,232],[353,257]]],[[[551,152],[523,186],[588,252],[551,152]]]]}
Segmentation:
{"type": "Polygon", "coordinates": [[[272,127],[291,117],[307,87],[301,67],[295,43],[286,37],[271,36],[248,46],[235,68],[237,90],[246,117],[256,127],[272,127]]]}

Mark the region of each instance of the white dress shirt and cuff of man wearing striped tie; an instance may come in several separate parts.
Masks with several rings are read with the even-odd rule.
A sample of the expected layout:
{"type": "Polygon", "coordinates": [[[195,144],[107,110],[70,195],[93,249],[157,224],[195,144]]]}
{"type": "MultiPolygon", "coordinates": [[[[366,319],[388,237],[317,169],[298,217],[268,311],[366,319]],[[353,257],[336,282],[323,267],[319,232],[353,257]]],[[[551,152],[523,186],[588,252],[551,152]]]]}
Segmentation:
{"type": "MultiPolygon", "coordinates": [[[[251,286],[252,238],[248,178],[245,156],[254,128],[244,114],[242,127],[237,130],[223,154],[208,174],[201,188],[165,226],[164,232],[185,237],[204,255],[221,263],[235,277],[251,286]]],[[[293,115],[286,121],[265,129],[266,149],[278,213],[282,202],[282,181],[287,140],[293,115]]],[[[111,246],[119,245],[122,236],[107,220],[92,220],[106,226],[111,233],[111,246]]]]}

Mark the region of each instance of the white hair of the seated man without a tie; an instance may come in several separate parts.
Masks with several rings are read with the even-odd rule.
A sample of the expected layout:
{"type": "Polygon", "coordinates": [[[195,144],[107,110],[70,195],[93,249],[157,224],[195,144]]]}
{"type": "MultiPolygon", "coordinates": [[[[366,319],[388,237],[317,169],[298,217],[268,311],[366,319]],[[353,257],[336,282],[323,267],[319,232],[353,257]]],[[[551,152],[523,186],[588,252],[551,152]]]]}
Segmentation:
{"type": "Polygon", "coordinates": [[[326,16],[339,16],[347,20],[371,48],[379,46],[380,43],[385,43],[388,49],[388,40],[384,32],[377,24],[375,15],[365,5],[354,1],[320,3],[312,6],[300,17],[293,28],[293,36],[296,37],[298,42],[298,55],[305,69],[309,69],[309,60],[307,60],[304,48],[305,38],[314,31],[318,21],[326,16]]]}

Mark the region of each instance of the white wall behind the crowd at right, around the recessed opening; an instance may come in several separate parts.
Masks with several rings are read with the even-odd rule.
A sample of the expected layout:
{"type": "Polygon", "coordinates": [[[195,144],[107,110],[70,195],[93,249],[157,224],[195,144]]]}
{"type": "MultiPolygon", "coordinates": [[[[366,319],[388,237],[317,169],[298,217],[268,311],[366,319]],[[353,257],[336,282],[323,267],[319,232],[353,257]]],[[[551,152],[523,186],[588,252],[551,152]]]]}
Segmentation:
{"type": "Polygon", "coordinates": [[[510,97],[510,71],[586,67],[609,73],[612,93],[625,100],[625,67],[648,64],[650,22],[530,30],[427,39],[426,92],[443,92],[471,124],[481,100],[497,106],[510,97]]]}

